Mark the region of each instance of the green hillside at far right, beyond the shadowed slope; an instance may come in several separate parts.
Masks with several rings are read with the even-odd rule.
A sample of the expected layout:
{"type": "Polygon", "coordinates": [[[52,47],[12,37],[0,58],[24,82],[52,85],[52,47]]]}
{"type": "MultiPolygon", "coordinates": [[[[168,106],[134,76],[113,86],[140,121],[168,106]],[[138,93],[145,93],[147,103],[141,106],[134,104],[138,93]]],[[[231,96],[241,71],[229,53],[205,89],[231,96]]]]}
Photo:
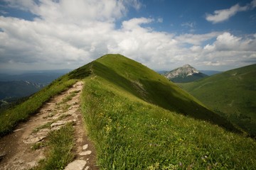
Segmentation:
{"type": "Polygon", "coordinates": [[[178,84],[208,108],[256,136],[256,64],[178,84]]]}

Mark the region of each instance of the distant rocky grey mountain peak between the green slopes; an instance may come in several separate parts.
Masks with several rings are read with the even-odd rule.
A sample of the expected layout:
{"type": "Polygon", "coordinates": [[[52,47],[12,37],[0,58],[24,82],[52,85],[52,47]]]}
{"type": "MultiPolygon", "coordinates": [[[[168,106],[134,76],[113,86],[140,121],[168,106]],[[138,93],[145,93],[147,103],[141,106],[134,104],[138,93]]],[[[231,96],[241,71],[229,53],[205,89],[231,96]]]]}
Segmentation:
{"type": "Polygon", "coordinates": [[[175,83],[185,83],[208,77],[208,75],[203,74],[194,67],[191,67],[191,65],[186,64],[183,65],[183,67],[178,67],[177,69],[164,73],[164,77],[175,83]]]}

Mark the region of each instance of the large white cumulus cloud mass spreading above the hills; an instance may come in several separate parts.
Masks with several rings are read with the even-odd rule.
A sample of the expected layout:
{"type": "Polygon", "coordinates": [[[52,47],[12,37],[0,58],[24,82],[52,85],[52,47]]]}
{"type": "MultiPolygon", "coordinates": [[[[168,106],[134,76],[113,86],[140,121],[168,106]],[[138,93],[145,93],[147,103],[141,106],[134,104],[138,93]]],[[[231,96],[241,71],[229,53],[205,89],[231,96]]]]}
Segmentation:
{"type": "Polygon", "coordinates": [[[256,62],[256,35],[176,35],[151,28],[159,18],[131,18],[116,28],[129,8],[139,8],[135,0],[8,1],[36,18],[0,16],[0,67],[78,67],[107,53],[120,53],[152,69],[256,62]]]}

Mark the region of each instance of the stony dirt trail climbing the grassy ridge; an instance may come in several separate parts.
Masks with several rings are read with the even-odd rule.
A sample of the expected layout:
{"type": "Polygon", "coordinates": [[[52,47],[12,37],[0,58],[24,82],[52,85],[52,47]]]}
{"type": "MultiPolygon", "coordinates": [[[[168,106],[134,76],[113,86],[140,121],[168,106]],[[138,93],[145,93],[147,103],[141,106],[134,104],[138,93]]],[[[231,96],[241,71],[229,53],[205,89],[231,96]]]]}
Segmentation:
{"type": "Polygon", "coordinates": [[[85,134],[80,113],[80,94],[83,82],[53,97],[36,115],[16,130],[0,139],[0,169],[31,169],[41,159],[47,159],[48,132],[73,123],[75,159],[65,167],[69,169],[98,169],[95,149],[85,134]]]}

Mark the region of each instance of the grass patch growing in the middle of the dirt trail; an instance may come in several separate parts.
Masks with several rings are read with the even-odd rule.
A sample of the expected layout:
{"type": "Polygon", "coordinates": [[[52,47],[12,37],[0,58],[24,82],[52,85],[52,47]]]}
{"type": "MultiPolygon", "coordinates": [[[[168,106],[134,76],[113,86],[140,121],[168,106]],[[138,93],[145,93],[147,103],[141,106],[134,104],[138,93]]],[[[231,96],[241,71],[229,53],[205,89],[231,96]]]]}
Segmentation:
{"type": "MultiPolygon", "coordinates": [[[[46,159],[41,160],[39,165],[33,168],[33,170],[64,169],[74,158],[72,152],[74,145],[73,132],[72,123],[63,126],[60,130],[49,132],[46,159]]],[[[38,147],[41,147],[41,144],[33,147],[38,149],[38,147]]]]}

